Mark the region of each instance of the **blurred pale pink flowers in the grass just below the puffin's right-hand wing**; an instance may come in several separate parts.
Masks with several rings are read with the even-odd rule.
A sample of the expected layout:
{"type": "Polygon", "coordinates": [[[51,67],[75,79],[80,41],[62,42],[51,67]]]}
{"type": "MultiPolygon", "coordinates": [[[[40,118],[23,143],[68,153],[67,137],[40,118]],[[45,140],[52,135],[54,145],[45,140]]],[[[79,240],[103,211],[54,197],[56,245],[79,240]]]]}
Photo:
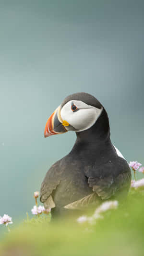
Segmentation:
{"type": "Polygon", "coordinates": [[[111,209],[117,209],[118,207],[118,201],[106,201],[102,203],[99,207],[96,208],[95,213],[91,217],[87,216],[81,216],[77,219],[77,222],[84,223],[88,222],[90,224],[94,224],[96,222],[96,219],[102,219],[103,216],[102,213],[111,210],[111,209]]]}

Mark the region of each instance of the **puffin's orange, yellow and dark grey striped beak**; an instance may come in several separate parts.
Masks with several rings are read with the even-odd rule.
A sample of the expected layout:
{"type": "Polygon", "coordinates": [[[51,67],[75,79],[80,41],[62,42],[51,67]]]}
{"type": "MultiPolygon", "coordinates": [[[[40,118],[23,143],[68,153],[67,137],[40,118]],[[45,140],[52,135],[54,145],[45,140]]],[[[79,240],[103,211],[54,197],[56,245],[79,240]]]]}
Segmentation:
{"type": "Polygon", "coordinates": [[[62,120],[59,106],[48,118],[45,126],[45,138],[54,134],[63,134],[68,132],[65,126],[69,126],[69,123],[62,120]]]}

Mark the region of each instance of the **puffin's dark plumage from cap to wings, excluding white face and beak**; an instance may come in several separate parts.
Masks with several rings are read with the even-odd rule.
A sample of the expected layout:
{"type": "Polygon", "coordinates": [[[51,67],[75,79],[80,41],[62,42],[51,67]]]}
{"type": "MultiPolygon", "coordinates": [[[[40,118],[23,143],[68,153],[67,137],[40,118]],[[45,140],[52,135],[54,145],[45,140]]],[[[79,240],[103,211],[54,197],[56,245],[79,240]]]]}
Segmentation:
{"type": "MultiPolygon", "coordinates": [[[[73,99],[102,107],[95,97],[78,93],[67,97],[61,108],[73,99]]],[[[130,189],[131,170],[110,141],[104,108],[96,123],[76,136],[72,151],[48,170],[41,185],[40,200],[45,207],[54,207],[53,212],[96,207],[103,200],[125,197],[130,189]]]]}

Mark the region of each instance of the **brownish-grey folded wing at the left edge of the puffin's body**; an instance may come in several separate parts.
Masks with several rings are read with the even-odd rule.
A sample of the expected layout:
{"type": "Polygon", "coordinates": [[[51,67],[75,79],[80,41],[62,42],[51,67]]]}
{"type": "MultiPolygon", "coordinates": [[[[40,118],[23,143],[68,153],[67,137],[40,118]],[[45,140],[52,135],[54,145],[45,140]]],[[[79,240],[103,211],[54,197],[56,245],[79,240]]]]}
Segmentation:
{"type": "Polygon", "coordinates": [[[51,194],[60,184],[60,175],[61,172],[59,169],[58,161],[50,167],[43,180],[43,183],[41,184],[40,201],[44,203],[46,209],[55,207],[55,203],[51,194]]]}

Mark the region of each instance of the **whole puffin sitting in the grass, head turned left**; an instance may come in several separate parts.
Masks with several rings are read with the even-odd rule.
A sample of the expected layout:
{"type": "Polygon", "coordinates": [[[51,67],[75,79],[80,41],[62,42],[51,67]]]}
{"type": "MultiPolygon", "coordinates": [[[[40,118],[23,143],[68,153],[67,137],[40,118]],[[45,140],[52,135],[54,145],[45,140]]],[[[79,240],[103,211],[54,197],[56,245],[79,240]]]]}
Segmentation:
{"type": "Polygon", "coordinates": [[[54,163],[41,184],[40,201],[52,218],[124,199],[131,185],[128,162],[110,140],[108,114],[88,93],[66,97],[48,118],[45,137],[76,133],[71,152],[54,163]]]}

